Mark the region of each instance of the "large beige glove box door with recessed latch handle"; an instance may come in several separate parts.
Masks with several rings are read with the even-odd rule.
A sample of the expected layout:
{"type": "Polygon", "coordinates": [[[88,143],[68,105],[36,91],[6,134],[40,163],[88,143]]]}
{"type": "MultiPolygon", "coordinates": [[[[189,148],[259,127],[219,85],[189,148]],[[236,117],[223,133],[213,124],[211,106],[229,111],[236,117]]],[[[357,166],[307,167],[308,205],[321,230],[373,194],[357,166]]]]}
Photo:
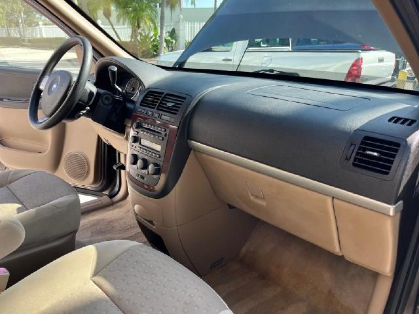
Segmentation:
{"type": "Polygon", "coordinates": [[[263,221],[341,255],[333,201],[311,190],[196,152],[215,193],[263,221]]]}

